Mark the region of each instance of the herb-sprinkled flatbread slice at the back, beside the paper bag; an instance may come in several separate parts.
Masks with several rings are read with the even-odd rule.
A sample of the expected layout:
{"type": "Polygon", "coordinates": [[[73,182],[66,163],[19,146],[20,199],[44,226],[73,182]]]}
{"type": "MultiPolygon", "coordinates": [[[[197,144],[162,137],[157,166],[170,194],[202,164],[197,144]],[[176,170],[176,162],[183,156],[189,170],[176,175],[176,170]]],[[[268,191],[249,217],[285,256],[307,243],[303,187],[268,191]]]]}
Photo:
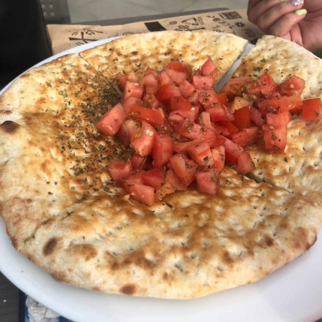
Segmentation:
{"type": "Polygon", "coordinates": [[[231,33],[198,30],[134,34],[86,50],[80,56],[110,80],[134,71],[140,79],[147,67],[155,71],[171,61],[184,61],[197,70],[210,57],[217,67],[217,83],[246,48],[247,40],[231,33]]]}

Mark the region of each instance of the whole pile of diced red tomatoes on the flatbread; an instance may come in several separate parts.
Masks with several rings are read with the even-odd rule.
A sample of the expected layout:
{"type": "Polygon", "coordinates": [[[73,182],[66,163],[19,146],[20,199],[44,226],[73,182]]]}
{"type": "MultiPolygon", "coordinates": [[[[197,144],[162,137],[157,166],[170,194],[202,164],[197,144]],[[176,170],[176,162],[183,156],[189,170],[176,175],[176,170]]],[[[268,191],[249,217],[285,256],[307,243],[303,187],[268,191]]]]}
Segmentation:
{"type": "Polygon", "coordinates": [[[263,138],[266,151],[284,151],[291,113],[321,118],[321,99],[302,101],[305,82],[297,76],[279,85],[268,72],[257,81],[233,78],[220,93],[217,78],[210,58],[194,73],[173,61],[161,72],[147,68],[141,80],[118,75],[121,102],[96,124],[134,150],[131,160],[111,161],[115,185],[147,205],[194,181],[200,193],[214,195],[225,164],[239,174],[254,170],[248,145],[263,138]]]}

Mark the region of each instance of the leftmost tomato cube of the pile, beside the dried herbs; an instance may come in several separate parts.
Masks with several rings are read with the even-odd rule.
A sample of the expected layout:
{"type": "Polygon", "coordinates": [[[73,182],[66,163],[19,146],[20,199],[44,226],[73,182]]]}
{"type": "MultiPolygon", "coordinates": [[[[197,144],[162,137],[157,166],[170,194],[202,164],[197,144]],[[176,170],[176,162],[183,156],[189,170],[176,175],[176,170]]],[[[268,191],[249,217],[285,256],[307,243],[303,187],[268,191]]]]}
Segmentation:
{"type": "Polygon", "coordinates": [[[108,112],[106,112],[99,121],[95,124],[104,135],[114,135],[121,128],[125,121],[126,114],[123,106],[118,103],[108,112]]]}

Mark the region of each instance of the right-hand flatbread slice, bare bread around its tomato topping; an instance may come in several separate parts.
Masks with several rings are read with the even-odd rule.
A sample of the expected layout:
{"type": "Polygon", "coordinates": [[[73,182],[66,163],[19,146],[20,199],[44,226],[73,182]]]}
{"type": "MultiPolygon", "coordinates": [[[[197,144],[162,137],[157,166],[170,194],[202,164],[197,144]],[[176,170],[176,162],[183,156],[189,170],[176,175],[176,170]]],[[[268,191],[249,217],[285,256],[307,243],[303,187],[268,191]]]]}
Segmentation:
{"type": "MultiPolygon", "coordinates": [[[[277,84],[296,75],[305,81],[302,99],[322,98],[322,60],[296,43],[264,36],[233,77],[257,80],[264,71],[277,84]]],[[[284,153],[266,153],[263,140],[248,148],[256,167],[250,177],[292,193],[310,194],[312,199],[321,198],[322,121],[306,122],[302,114],[294,114],[287,127],[284,153]]]]}

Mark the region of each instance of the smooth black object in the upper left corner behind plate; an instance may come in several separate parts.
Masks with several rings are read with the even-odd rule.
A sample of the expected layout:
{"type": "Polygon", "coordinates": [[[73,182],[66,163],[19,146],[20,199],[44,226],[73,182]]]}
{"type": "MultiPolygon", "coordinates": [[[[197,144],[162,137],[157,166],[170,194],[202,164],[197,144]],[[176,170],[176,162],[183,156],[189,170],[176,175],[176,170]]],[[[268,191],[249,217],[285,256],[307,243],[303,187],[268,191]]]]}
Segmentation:
{"type": "Polygon", "coordinates": [[[39,0],[0,0],[0,86],[52,55],[39,0]]]}

